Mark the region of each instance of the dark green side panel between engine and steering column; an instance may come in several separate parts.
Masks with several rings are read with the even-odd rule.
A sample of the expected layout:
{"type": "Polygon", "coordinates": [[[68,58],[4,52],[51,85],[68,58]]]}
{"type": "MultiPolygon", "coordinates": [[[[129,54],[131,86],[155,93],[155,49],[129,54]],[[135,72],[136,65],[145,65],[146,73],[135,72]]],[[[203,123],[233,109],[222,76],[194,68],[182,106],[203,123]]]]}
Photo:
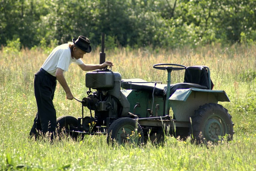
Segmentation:
{"type": "MultiPolygon", "coordinates": [[[[121,92],[126,96],[127,100],[130,102],[130,113],[134,115],[138,115],[140,118],[149,117],[147,109],[152,110],[153,98],[152,94],[146,91],[140,90],[121,90],[121,92]],[[135,105],[139,103],[140,107],[137,107],[134,112],[135,105]]],[[[154,97],[154,105],[153,105],[153,115],[156,116],[155,107],[159,105],[159,109],[157,110],[158,116],[164,116],[164,101],[163,97],[154,97]]]]}

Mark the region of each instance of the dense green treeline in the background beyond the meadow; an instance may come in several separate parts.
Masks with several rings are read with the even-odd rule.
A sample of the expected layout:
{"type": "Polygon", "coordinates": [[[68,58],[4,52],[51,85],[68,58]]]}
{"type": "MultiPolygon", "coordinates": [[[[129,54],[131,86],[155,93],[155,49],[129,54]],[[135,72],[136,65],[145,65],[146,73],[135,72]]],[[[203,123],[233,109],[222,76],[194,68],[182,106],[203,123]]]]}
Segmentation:
{"type": "Polygon", "coordinates": [[[256,40],[255,0],[2,0],[0,44],[48,46],[104,32],[108,47],[204,46],[256,40]]]}

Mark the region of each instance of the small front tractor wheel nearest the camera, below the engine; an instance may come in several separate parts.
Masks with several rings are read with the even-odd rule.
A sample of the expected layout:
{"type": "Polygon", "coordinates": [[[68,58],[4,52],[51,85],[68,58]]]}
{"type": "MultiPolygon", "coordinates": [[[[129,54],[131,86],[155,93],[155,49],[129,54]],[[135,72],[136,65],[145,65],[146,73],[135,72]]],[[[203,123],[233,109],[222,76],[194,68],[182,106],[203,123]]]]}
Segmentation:
{"type": "Polygon", "coordinates": [[[133,143],[141,145],[144,136],[141,126],[131,118],[119,118],[108,129],[107,143],[118,144],[133,143]]]}

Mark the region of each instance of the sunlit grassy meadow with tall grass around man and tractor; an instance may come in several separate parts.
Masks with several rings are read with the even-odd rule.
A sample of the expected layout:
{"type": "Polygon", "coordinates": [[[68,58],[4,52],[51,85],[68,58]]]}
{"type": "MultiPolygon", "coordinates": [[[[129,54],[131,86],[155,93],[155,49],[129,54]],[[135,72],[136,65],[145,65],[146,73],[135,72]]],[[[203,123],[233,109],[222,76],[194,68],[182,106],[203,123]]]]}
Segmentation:
{"type": "MultiPolygon", "coordinates": [[[[106,136],[86,136],[83,140],[63,139],[53,144],[28,139],[36,114],[34,73],[48,54],[41,50],[0,51],[0,170],[255,170],[256,169],[256,46],[198,49],[150,50],[129,48],[106,51],[107,60],[122,78],[147,81],[167,79],[156,63],[185,66],[206,65],[211,69],[214,90],[225,90],[231,102],[221,102],[233,116],[233,141],[197,146],[189,140],[166,137],[163,146],[147,143],[108,146],[106,136]]],[[[99,49],[88,53],[84,63],[99,61],[99,49]]],[[[181,71],[172,72],[173,83],[183,81],[181,71]]],[[[72,64],[65,77],[73,95],[86,97],[85,72],[72,64]]],[[[67,100],[60,84],[54,99],[57,117],[81,116],[81,105],[67,100]]],[[[88,111],[86,115],[89,115],[88,111]]]]}

